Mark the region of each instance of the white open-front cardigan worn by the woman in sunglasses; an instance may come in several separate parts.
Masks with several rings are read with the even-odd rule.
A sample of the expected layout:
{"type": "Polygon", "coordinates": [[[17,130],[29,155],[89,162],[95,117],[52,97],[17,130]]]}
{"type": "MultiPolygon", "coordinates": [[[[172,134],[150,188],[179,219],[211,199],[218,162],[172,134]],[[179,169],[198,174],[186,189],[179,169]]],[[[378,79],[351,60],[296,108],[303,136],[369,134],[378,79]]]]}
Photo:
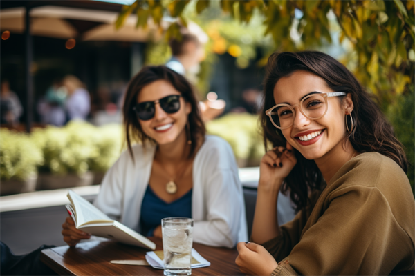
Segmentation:
{"type": "MultiPolygon", "coordinates": [[[[149,184],[155,146],[133,146],[105,175],[94,201],[102,212],[140,231],[141,203],[149,184]]],[[[193,240],[209,246],[234,247],[248,240],[243,190],[228,142],[207,135],[193,164],[193,240]]]]}

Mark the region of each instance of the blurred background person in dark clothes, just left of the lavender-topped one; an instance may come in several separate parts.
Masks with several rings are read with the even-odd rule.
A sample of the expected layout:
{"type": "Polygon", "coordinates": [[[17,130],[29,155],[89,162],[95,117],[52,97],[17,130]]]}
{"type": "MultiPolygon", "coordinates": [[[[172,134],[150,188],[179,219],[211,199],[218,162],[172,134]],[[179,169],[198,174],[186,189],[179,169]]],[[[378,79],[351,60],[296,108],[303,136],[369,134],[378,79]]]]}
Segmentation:
{"type": "Polygon", "coordinates": [[[67,94],[61,81],[57,79],[53,81],[46,95],[37,103],[37,112],[41,116],[42,123],[54,126],[63,126],[66,123],[64,105],[67,94]]]}

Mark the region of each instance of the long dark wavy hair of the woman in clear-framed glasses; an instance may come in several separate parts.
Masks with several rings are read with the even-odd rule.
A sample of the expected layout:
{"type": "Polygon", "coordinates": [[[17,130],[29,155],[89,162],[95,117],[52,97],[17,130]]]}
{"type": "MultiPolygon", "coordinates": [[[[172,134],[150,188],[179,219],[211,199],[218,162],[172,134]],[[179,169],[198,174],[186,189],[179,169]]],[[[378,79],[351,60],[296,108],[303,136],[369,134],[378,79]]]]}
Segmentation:
{"type": "MultiPolygon", "coordinates": [[[[266,150],[268,150],[267,141],[270,141],[273,147],[286,146],[282,131],[273,126],[264,111],[275,106],[273,91],[277,81],[297,70],[311,72],[321,77],[333,91],[351,94],[354,104],[351,112],[353,130],[351,133],[347,132],[344,141],[349,139],[358,152],[379,152],[396,161],[405,173],[407,172],[408,163],[403,146],[396,139],[392,126],[372,99],[374,95],[367,93],[342,63],[322,52],[281,52],[273,53],[269,57],[264,79],[264,108],[261,112],[266,150]]],[[[286,177],[282,191],[290,190],[290,197],[297,206],[296,210],[300,210],[308,202],[308,193],[322,189],[324,183],[322,173],[315,161],[306,159],[297,150],[294,152],[297,164],[286,177]]]]}

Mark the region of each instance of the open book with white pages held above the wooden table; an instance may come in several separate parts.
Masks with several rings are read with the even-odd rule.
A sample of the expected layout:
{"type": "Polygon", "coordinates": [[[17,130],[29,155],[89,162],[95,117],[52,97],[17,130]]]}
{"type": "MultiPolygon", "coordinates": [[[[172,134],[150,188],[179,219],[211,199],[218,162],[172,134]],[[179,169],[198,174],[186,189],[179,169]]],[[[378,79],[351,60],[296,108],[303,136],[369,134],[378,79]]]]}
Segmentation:
{"type": "Polygon", "coordinates": [[[124,224],[110,219],[73,190],[68,190],[68,199],[71,204],[66,205],[66,209],[75,221],[77,229],[98,237],[116,239],[124,244],[156,249],[154,242],[124,226],[124,224]]]}

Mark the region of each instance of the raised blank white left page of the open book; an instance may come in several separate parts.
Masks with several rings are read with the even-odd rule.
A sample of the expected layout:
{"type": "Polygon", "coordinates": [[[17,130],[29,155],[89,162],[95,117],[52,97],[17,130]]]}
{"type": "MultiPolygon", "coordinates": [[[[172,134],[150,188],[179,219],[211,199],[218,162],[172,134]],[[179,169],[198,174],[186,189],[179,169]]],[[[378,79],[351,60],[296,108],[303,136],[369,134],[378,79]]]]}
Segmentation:
{"type": "Polygon", "coordinates": [[[75,210],[77,227],[87,224],[89,221],[113,221],[73,190],[68,191],[68,199],[75,210]]]}

